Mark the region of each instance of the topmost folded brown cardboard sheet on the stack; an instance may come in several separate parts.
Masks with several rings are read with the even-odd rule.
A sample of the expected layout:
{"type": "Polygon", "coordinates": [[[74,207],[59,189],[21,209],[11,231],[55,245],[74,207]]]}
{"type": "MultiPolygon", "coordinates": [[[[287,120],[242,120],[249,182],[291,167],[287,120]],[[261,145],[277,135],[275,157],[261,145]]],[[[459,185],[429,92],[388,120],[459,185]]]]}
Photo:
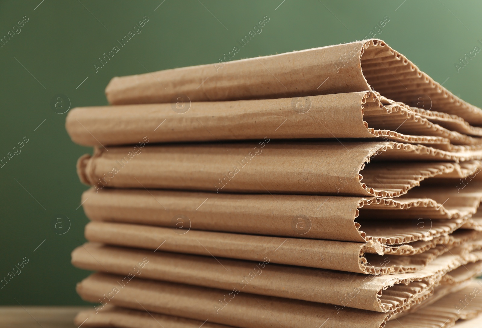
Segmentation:
{"type": "MultiPolygon", "coordinates": [[[[234,50],[233,50],[234,51],[234,50]]],[[[234,53],[233,53],[234,56],[234,53]]],[[[177,103],[304,97],[375,90],[411,106],[482,124],[482,110],[461,100],[380,40],[294,51],[113,78],[109,103],[177,103]]]]}

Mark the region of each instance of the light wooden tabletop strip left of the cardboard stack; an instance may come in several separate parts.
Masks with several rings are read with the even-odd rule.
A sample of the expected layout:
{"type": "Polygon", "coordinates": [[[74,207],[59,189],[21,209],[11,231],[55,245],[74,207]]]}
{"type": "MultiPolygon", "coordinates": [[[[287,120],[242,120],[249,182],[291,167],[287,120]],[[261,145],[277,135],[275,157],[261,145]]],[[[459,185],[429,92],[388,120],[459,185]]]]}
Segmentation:
{"type": "Polygon", "coordinates": [[[2,306],[0,327],[2,328],[78,328],[75,315],[92,307],[67,306],[2,306]]]}

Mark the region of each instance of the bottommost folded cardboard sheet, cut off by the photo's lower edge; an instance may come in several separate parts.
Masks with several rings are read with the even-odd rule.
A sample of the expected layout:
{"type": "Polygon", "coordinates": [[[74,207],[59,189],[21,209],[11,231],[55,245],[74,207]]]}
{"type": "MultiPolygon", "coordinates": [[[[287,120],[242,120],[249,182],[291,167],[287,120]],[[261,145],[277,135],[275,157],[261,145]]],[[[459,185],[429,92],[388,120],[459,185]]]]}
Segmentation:
{"type": "MultiPolygon", "coordinates": [[[[482,320],[480,316],[482,301],[478,295],[478,289],[481,289],[480,284],[472,282],[465,288],[445,296],[435,304],[428,305],[423,310],[420,310],[420,312],[408,314],[400,323],[394,320],[394,318],[389,320],[385,327],[394,327],[390,325],[395,324],[400,328],[448,328],[452,327],[455,323],[455,328],[479,328],[480,320],[482,320]],[[467,298],[466,295],[469,295],[470,306],[461,306],[460,303],[457,303],[457,299],[465,301],[467,298]],[[474,301],[472,302],[472,300],[474,301]],[[454,313],[454,308],[457,309],[457,307],[461,309],[455,310],[454,313]]],[[[146,311],[130,310],[108,305],[98,312],[95,310],[80,312],[75,318],[75,324],[80,325],[82,322],[85,322],[85,327],[91,328],[157,328],[159,324],[164,328],[199,328],[202,324],[199,320],[196,321],[162,314],[149,315],[146,311]]],[[[233,322],[233,324],[235,323],[233,322]]],[[[232,327],[212,324],[210,322],[205,322],[203,326],[209,328],[232,327]]]]}

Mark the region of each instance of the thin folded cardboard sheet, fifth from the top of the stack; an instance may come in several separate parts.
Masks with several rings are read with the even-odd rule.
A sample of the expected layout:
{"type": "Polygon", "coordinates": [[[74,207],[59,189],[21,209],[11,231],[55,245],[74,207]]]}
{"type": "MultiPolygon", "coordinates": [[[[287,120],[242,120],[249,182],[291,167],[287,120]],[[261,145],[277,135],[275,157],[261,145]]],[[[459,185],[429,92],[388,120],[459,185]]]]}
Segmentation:
{"type": "MultiPolygon", "coordinates": [[[[372,248],[376,246],[104,222],[88,223],[85,227],[85,238],[108,245],[240,260],[264,261],[268,258],[279,264],[371,274],[420,270],[449,250],[446,246],[435,246],[410,256],[365,254],[365,249],[373,251],[372,248]]],[[[477,242],[474,243],[477,248],[477,242]]],[[[378,249],[382,250],[381,248],[378,249]]]]}

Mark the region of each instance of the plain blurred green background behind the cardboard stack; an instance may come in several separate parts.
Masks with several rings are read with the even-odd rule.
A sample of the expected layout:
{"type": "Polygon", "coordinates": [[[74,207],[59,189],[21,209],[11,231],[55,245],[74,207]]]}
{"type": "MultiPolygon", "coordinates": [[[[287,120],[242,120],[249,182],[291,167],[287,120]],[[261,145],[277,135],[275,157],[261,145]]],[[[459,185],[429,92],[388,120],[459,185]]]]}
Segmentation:
{"type": "Polygon", "coordinates": [[[68,96],[72,108],[107,105],[104,88],[112,77],[218,62],[264,16],[269,22],[237,59],[361,40],[388,16],[378,38],[436,81],[449,78],[445,87],[482,107],[482,53],[455,69],[482,39],[481,1],[165,0],[159,7],[162,0],[40,1],[0,3],[0,36],[29,19],[0,48],[0,158],[29,140],[0,168],[0,277],[29,260],[0,289],[0,304],[83,304],[75,284],[88,272],[71,266],[70,252],[85,241],[87,223],[76,209],[87,187],[75,163],[91,150],[70,141],[67,114],[51,108],[56,94],[68,96]],[[142,32],[96,72],[98,57],[144,16],[142,32]],[[67,231],[66,217],[70,230],[57,234],[67,231]],[[66,226],[55,229],[56,218],[66,226]]]}

